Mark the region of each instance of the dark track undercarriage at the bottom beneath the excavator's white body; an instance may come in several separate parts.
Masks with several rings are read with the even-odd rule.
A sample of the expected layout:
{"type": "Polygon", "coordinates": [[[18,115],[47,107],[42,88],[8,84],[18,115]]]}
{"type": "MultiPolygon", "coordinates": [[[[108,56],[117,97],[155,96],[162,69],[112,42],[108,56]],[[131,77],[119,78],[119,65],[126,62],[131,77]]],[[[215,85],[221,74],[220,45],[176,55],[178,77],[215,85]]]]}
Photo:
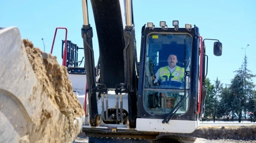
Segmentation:
{"type": "Polygon", "coordinates": [[[159,135],[158,132],[141,132],[117,129],[83,129],[89,143],[212,143],[204,138],[159,135]]]}

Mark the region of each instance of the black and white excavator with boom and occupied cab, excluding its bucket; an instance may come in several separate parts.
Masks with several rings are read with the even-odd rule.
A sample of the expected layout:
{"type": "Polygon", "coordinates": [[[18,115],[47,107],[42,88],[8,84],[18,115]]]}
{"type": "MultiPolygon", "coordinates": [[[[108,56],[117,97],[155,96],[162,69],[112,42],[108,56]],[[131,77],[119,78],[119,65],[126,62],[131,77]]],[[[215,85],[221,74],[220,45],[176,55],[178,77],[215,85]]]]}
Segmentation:
{"type": "Polygon", "coordinates": [[[99,45],[97,66],[87,0],[82,0],[83,48],[67,40],[67,28],[57,27],[51,49],[52,53],[57,29],[65,29],[62,66],[83,105],[85,117],[79,122],[89,143],[209,142],[168,134],[189,134],[199,127],[207,96],[205,40],[215,41],[215,56],[222,55],[222,43],[203,39],[196,25],[148,22],[141,27],[138,62],[133,0],[91,0],[91,6],[99,45]]]}

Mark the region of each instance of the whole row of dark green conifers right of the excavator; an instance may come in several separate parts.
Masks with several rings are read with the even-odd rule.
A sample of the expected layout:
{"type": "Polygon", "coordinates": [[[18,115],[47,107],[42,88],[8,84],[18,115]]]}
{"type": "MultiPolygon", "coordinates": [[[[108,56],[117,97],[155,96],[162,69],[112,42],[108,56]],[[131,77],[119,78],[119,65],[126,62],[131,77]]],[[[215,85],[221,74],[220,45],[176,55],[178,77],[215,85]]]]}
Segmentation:
{"type": "Polygon", "coordinates": [[[246,118],[256,121],[256,85],[252,82],[252,77],[256,75],[247,69],[246,56],[242,66],[234,73],[231,83],[225,86],[218,77],[213,84],[208,78],[205,79],[207,96],[203,121],[213,119],[215,122],[219,118],[227,121],[238,119],[239,123],[246,118]]]}

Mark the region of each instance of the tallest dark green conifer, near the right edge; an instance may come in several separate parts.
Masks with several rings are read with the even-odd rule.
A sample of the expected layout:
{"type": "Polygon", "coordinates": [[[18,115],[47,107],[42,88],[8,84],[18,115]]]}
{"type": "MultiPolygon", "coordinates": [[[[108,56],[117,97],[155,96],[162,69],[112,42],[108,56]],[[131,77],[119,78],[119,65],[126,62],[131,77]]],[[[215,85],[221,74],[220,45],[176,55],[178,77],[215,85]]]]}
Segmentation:
{"type": "Polygon", "coordinates": [[[232,114],[232,119],[238,118],[238,121],[241,122],[243,117],[246,118],[249,110],[255,110],[255,84],[251,78],[256,75],[251,74],[251,71],[247,69],[246,56],[244,57],[242,67],[234,72],[236,75],[231,80],[230,87],[223,90],[221,94],[220,104],[223,104],[222,108],[227,111],[224,112],[226,115],[229,112],[232,114]]]}

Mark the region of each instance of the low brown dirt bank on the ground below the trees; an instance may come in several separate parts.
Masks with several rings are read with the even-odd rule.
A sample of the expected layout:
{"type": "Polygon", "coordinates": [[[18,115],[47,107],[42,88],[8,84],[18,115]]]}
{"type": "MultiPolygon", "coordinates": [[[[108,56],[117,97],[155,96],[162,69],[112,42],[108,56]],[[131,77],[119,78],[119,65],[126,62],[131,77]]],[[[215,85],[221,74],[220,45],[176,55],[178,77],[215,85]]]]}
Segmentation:
{"type": "Polygon", "coordinates": [[[207,127],[199,128],[191,134],[163,134],[200,137],[205,139],[235,139],[235,140],[255,140],[256,126],[239,126],[239,127],[207,127]]]}

